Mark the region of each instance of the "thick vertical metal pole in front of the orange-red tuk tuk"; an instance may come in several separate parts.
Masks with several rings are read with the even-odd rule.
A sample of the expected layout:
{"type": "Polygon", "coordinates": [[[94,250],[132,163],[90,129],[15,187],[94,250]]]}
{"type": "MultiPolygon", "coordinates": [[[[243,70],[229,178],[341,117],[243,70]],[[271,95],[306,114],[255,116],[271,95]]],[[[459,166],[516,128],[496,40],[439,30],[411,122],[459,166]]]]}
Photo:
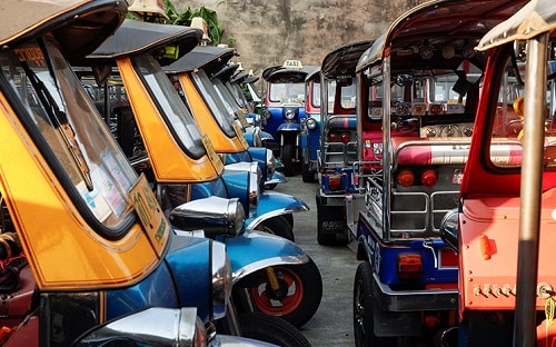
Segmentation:
{"type": "Polygon", "coordinates": [[[522,208],[517,257],[517,295],[514,346],[536,345],[536,284],[546,109],[546,49],[548,33],[527,43],[522,208]]]}

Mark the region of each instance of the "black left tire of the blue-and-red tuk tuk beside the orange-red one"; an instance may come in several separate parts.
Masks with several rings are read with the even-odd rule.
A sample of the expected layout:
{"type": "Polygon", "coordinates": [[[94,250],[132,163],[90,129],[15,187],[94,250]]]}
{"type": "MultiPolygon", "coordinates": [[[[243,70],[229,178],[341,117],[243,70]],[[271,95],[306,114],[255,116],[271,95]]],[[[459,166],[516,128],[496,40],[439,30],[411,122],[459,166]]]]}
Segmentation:
{"type": "Polygon", "coordinates": [[[375,336],[373,300],[373,268],[369,262],[365,261],[357,267],[354,284],[355,346],[396,347],[396,338],[375,336]]]}

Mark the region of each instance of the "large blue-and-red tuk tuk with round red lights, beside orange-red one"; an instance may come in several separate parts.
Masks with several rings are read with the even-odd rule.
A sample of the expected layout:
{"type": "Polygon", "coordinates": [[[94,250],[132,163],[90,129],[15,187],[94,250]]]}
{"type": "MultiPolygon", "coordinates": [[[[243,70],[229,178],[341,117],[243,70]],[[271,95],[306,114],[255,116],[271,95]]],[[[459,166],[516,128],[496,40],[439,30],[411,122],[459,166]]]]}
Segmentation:
{"type": "MultiPolygon", "coordinates": [[[[354,281],[357,346],[430,346],[438,331],[454,326],[458,258],[440,229],[467,177],[486,87],[487,54],[474,48],[524,4],[425,2],[396,19],[359,58],[356,180],[364,208],[357,224],[348,224],[361,260],[354,281]]],[[[507,150],[506,143],[493,148],[499,156],[507,150]]]]}

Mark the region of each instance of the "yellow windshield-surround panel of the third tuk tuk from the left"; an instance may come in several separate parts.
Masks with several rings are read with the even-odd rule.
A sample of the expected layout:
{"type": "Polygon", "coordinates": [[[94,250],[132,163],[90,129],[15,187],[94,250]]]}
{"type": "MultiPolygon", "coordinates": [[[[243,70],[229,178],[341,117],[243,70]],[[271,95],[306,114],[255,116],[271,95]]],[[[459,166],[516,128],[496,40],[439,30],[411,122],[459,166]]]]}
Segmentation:
{"type": "Polygon", "coordinates": [[[220,129],[220,126],[210,113],[210,109],[205,103],[205,100],[202,100],[189,75],[185,72],[179,73],[178,77],[181,88],[191,106],[191,113],[197,121],[197,126],[202,133],[208,135],[215,150],[218,153],[236,153],[247,150],[248,145],[242,137],[236,136],[229,138],[220,129]]]}

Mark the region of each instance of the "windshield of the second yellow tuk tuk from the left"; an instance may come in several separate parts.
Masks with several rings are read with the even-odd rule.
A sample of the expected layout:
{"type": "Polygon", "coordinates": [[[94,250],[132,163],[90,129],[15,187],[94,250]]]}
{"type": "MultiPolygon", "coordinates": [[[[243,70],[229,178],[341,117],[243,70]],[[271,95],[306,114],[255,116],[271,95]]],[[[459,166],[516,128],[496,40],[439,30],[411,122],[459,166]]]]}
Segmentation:
{"type": "Polygon", "coordinates": [[[205,156],[206,150],[197,123],[158,61],[152,56],[141,54],[133,58],[133,66],[158,103],[166,125],[180,147],[191,158],[205,156]]]}

